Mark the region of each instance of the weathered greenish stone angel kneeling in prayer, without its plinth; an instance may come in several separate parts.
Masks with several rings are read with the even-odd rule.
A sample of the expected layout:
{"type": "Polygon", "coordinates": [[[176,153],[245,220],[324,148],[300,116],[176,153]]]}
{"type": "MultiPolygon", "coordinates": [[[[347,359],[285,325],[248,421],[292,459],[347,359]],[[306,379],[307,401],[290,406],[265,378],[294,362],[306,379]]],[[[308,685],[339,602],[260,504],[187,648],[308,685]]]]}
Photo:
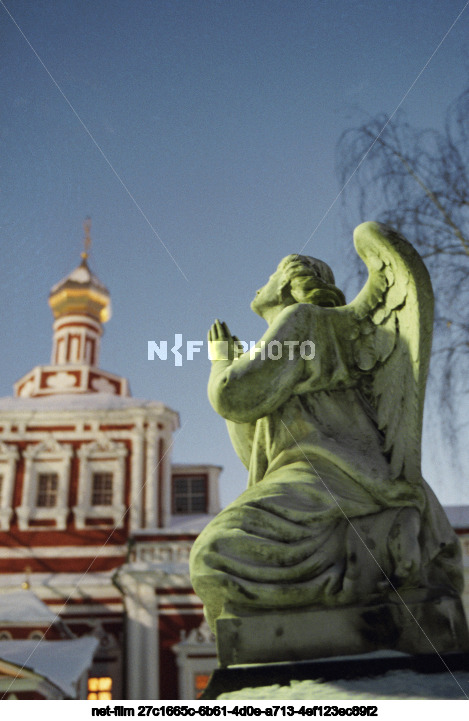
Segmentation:
{"type": "Polygon", "coordinates": [[[421,475],[430,278],[383,225],[363,223],[354,242],[368,280],[351,303],[325,263],[289,255],[251,303],[268,323],[256,349],[237,352],[225,323],[210,329],[214,353],[219,341],[231,353],[213,360],[209,399],[249,469],[191,554],[212,628],[228,607],[428,607],[461,593],[457,537],[421,475]]]}

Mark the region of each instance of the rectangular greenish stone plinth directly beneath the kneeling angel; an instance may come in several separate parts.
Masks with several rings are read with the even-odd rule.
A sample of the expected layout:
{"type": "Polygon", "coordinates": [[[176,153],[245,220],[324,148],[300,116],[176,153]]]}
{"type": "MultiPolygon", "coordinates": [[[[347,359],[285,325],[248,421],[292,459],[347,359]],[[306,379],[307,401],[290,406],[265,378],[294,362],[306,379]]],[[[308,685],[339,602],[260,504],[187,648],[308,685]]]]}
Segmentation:
{"type": "Polygon", "coordinates": [[[329,609],[247,612],[227,608],[217,620],[216,637],[222,667],[381,649],[406,654],[469,650],[461,601],[450,597],[329,609]]]}

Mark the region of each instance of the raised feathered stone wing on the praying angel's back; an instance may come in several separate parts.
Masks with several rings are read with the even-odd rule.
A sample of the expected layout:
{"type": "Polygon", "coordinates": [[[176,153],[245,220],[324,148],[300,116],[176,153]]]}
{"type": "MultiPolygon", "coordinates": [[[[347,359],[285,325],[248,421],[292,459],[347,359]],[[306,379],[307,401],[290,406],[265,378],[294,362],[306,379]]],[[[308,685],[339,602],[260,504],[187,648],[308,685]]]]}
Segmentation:
{"type": "Polygon", "coordinates": [[[379,223],[354,232],[368,280],[344,307],[351,321],[352,364],[371,379],[370,398],[392,478],[421,479],[425,383],[433,330],[433,291],[417,251],[379,223]]]}

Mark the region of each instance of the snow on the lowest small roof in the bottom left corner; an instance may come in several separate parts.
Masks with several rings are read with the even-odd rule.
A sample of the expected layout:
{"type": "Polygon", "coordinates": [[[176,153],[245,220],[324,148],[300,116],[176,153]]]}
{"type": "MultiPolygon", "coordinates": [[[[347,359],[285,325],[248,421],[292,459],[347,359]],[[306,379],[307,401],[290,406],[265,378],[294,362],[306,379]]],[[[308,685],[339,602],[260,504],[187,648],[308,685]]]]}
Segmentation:
{"type": "Polygon", "coordinates": [[[70,641],[0,641],[0,658],[27,668],[76,697],[76,684],[93,662],[99,641],[82,636],[70,641]]]}

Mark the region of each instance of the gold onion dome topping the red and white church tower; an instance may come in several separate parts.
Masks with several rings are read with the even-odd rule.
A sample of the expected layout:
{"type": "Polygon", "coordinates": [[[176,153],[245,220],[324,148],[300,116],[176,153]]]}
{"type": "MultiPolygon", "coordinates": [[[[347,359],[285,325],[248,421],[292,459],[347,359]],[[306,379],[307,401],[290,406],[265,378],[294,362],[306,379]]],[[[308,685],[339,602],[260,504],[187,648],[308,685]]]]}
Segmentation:
{"type": "Polygon", "coordinates": [[[65,315],[88,315],[100,323],[111,317],[109,291],[89,269],[88,254],[81,254],[80,265],[56,283],[49,294],[54,318],[65,315]]]}

